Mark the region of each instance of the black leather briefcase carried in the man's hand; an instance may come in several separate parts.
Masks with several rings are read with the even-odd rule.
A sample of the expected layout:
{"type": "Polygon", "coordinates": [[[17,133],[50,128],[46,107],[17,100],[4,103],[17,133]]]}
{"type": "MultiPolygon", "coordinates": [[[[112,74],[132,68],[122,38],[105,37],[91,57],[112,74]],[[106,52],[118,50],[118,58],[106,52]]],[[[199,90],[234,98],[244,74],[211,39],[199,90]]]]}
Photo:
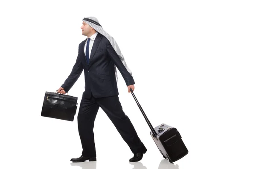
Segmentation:
{"type": "Polygon", "coordinates": [[[45,92],[41,116],[73,121],[76,109],[77,97],[45,92]]]}

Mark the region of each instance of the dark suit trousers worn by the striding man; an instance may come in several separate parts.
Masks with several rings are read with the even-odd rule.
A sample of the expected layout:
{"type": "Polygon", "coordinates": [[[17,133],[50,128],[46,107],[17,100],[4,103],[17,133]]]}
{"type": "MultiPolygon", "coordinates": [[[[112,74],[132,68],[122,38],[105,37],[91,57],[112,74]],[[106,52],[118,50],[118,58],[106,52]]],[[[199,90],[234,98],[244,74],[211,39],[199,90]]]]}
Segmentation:
{"type": "Polygon", "coordinates": [[[133,153],[145,153],[147,151],[138,137],[131,120],[123,112],[119,97],[95,98],[91,95],[90,99],[82,97],[77,117],[79,136],[83,148],[82,155],[84,157],[96,157],[93,127],[99,107],[101,107],[110,118],[133,153]]]}

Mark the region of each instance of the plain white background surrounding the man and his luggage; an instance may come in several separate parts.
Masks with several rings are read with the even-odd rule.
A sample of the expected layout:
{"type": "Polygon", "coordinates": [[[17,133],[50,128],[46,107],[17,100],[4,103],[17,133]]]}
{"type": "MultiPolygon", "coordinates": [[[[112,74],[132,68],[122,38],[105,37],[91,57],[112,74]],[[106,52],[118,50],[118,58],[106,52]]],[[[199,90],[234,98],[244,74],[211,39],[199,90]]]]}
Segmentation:
{"type": "MultiPolygon", "coordinates": [[[[1,1],[0,168],[255,169],[255,9],[253,0],[1,1]],[[70,74],[89,16],[118,43],[152,125],[178,129],[184,158],[163,160],[118,72],[124,112],[148,152],[130,164],[130,149],[99,109],[97,162],[71,163],[82,151],[77,114],[69,122],[41,117],[41,108],[44,93],[70,74]]],[[[80,104],[83,91],[82,73],[69,95],[80,104]]]]}

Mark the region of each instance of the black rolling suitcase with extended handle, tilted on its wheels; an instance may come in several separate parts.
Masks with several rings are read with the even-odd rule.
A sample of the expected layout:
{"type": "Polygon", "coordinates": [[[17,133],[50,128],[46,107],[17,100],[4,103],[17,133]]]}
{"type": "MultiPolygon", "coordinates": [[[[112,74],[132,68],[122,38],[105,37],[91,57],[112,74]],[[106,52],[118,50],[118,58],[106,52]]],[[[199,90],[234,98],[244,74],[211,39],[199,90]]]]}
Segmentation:
{"type": "Polygon", "coordinates": [[[140,106],[140,103],[135,97],[132,89],[130,90],[132,96],[134,97],[137,105],[140,108],[140,111],[145,117],[145,120],[148,123],[149,128],[151,129],[150,135],[153,138],[154,142],[156,143],[160,153],[163,155],[163,158],[168,158],[169,162],[173,163],[187,155],[189,151],[186,148],[185,144],[183,143],[181,135],[177,131],[177,129],[166,124],[161,124],[160,126],[153,128],[153,126],[148,120],[148,117],[145,115],[145,112],[140,106]]]}

